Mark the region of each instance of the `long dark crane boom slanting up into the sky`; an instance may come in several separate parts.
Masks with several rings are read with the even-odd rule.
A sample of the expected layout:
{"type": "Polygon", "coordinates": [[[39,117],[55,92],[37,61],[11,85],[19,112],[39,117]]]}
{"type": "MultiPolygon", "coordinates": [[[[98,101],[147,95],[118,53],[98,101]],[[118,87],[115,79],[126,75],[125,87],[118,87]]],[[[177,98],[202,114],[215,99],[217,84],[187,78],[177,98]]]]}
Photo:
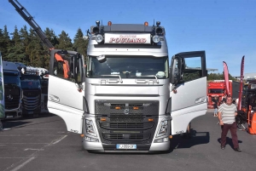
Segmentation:
{"type": "Polygon", "coordinates": [[[32,29],[37,32],[38,37],[40,37],[41,41],[49,48],[49,50],[54,49],[55,47],[49,42],[49,39],[46,37],[40,26],[38,26],[38,23],[33,20],[32,15],[29,14],[17,0],[9,0],[9,3],[15,7],[16,11],[24,20],[26,20],[29,26],[31,26],[32,29]]]}

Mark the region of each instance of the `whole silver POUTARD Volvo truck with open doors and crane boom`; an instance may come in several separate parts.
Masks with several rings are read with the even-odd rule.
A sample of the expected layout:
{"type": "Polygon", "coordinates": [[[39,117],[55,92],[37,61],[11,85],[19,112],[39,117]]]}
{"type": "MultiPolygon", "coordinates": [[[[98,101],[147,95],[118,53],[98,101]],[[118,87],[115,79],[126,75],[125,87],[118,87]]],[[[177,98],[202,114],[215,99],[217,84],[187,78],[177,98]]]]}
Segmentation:
{"type": "Polygon", "coordinates": [[[167,151],[170,135],[206,114],[205,51],[170,56],[160,22],[96,21],[84,63],[78,52],[54,49],[26,9],[9,2],[49,47],[48,110],[82,134],[85,150],[167,151]]]}

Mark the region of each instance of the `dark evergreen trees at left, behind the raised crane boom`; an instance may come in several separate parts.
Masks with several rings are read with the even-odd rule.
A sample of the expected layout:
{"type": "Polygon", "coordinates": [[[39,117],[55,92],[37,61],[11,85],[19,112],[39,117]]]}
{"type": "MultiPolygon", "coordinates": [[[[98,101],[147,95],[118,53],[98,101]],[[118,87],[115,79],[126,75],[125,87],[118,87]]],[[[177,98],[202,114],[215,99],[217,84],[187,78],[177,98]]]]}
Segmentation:
{"type": "MultiPolygon", "coordinates": [[[[78,51],[86,56],[88,40],[84,38],[80,28],[73,41],[66,31],[61,31],[61,34],[56,36],[55,31],[47,27],[44,33],[55,48],[78,51]]],[[[15,26],[13,32],[9,32],[7,26],[0,28],[0,51],[3,60],[49,69],[49,48],[43,45],[32,28],[28,30],[23,26],[19,30],[15,26]]]]}

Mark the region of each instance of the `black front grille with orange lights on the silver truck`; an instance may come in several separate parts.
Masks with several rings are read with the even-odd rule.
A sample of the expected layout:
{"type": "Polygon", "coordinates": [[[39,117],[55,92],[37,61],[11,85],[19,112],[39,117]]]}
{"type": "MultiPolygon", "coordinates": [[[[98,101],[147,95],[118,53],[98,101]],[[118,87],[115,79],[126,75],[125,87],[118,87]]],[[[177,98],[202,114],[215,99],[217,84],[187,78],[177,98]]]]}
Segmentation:
{"type": "Polygon", "coordinates": [[[96,126],[103,143],[152,142],[159,101],[96,100],[95,103],[96,126]]]}

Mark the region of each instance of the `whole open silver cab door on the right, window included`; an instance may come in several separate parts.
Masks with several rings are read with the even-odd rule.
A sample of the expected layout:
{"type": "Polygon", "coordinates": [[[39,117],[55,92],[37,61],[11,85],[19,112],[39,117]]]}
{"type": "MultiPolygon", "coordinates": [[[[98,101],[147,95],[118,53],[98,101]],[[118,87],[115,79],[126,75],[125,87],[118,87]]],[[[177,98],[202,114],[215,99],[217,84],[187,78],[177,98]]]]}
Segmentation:
{"type": "Polygon", "coordinates": [[[172,135],[183,134],[195,117],[207,112],[205,51],[172,56],[170,79],[172,135]]]}

